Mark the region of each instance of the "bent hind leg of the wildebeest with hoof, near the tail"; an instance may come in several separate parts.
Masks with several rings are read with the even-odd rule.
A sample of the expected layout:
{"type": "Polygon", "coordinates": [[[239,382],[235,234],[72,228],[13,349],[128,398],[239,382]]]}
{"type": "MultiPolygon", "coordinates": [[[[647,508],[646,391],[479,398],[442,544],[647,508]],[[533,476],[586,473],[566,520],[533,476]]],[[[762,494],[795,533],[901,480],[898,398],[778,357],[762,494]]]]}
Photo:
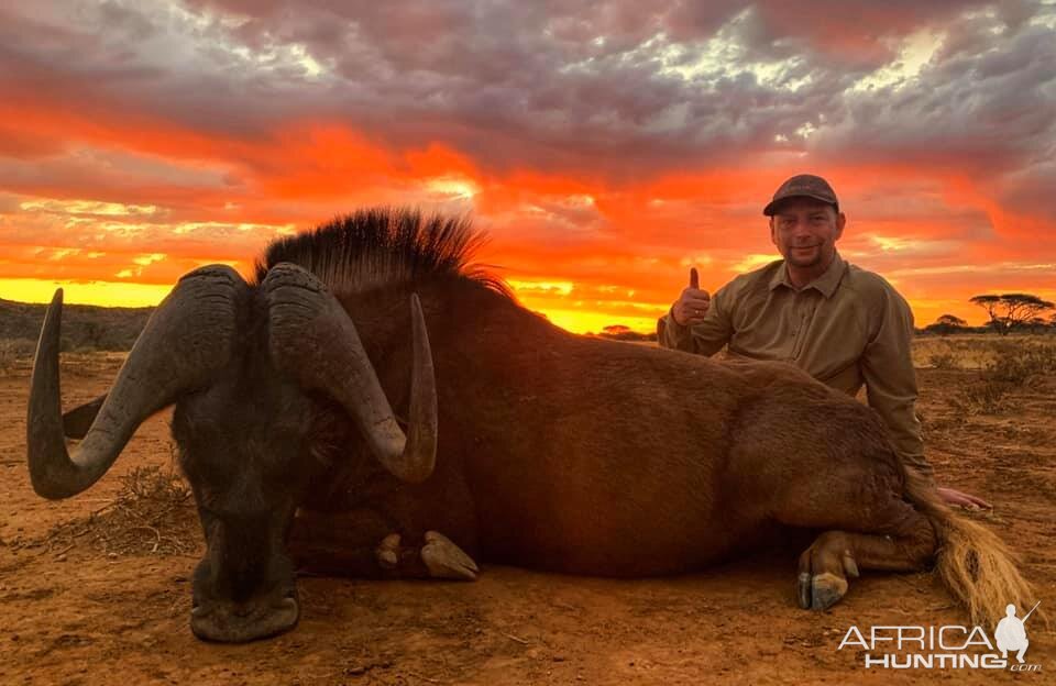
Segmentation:
{"type": "Polygon", "coordinates": [[[936,547],[928,519],[898,495],[897,479],[877,475],[795,479],[776,512],[780,522],[827,529],[800,556],[800,606],[823,610],[847,593],[859,569],[912,571],[936,547]]]}

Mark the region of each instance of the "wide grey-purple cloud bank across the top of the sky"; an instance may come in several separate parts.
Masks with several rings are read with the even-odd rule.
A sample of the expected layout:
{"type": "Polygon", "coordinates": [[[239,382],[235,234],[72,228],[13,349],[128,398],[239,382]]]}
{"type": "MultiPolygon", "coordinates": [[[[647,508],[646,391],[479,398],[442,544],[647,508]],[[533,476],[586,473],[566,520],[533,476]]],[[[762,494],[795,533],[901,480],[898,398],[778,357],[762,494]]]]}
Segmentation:
{"type": "MultiPolygon", "coordinates": [[[[0,95],[243,140],[337,120],[397,146],[447,143],[484,169],[620,182],[781,152],[1011,173],[1050,153],[1054,13],[920,0],[70,4],[8,11],[0,95]],[[919,75],[855,88],[920,30],[942,44],[919,75]]],[[[1004,192],[1034,197],[1032,184],[1010,177],[1004,192]]]]}

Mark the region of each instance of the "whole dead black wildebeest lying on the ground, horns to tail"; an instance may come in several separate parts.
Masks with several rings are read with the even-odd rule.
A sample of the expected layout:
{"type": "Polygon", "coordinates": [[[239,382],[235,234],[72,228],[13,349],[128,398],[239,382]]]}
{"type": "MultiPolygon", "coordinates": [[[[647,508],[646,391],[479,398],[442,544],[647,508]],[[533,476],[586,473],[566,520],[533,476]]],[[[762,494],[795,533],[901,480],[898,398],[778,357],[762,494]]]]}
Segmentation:
{"type": "Polygon", "coordinates": [[[784,364],[568,333],[468,266],[476,240],[461,220],[366,211],[272,244],[252,284],[224,266],[188,274],[101,408],[67,417],[84,436],[73,460],[56,294],[29,408],[34,488],[88,488],[175,403],[208,546],[190,623],[218,641],[295,624],[292,557],[472,578],[464,551],[645,576],[778,525],[823,531],[800,557],[804,608],[836,602],[860,569],[933,556],[975,618],[1028,599],[1001,542],[901,465],[870,409],[784,364]]]}

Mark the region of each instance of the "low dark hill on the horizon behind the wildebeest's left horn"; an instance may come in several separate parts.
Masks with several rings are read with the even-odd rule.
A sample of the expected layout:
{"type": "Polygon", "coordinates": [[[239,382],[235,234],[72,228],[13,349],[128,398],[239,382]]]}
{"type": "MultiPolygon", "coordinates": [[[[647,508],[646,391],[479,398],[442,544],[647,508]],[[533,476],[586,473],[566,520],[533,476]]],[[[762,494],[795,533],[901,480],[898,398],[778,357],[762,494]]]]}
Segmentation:
{"type": "MultiPolygon", "coordinates": [[[[46,310],[46,305],[0,298],[0,339],[15,342],[20,351],[29,346],[32,352],[46,310]]],[[[62,350],[131,350],[153,311],[154,308],[64,305],[62,350]]]]}

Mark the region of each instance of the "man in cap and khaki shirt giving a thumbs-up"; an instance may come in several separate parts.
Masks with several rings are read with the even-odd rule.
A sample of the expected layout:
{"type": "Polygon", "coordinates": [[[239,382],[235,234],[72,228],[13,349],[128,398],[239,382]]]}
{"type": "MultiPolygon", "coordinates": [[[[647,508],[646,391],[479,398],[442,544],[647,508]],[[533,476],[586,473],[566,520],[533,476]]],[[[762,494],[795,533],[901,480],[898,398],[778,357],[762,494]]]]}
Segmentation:
{"type": "MultiPolygon", "coordinates": [[[[789,362],[851,396],[865,385],[900,457],[932,478],[914,411],[909,305],[836,252],[847,218],[825,179],[793,176],[762,213],[784,259],[736,277],[714,298],[691,269],[690,287],[657,324],[660,345],[702,355],[727,345],[734,357],[789,362]]],[[[938,491],[950,505],[990,507],[953,488],[938,491]]]]}

